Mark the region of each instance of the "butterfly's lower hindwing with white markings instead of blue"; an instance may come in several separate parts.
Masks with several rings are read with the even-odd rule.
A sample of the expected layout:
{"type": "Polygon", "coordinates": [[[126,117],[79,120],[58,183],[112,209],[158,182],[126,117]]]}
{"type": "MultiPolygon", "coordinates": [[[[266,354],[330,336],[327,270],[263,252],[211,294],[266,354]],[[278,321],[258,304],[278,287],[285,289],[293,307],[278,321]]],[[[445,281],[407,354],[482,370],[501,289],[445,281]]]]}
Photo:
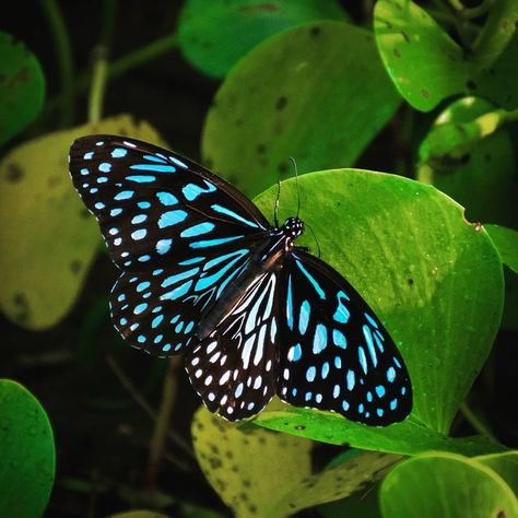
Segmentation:
{"type": "Polygon", "coordinates": [[[228,421],[259,413],[275,391],[279,273],[248,286],[216,329],[186,354],[190,382],[228,421]]]}

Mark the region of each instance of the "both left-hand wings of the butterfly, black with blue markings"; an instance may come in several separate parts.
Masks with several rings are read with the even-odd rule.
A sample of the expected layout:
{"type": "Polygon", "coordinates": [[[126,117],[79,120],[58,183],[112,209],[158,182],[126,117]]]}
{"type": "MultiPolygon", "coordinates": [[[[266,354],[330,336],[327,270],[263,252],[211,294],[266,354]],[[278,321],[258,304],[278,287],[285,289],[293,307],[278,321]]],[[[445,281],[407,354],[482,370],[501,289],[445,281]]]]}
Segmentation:
{"type": "Polygon", "coordinates": [[[125,137],[78,139],[70,174],[122,270],[110,301],[115,327],[153,354],[180,352],[269,223],[200,165],[125,137]]]}

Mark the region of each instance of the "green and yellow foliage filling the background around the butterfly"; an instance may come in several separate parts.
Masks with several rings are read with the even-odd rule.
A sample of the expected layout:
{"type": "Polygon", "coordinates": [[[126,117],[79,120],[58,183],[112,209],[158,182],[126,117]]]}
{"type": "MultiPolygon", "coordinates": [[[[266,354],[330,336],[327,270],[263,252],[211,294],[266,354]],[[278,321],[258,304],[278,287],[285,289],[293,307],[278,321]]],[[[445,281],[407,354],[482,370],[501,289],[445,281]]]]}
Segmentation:
{"type": "Polygon", "coordinates": [[[0,33],[1,375],[27,387],[0,380],[0,516],[40,516],[47,504],[61,516],[68,502],[71,516],[89,505],[90,516],[136,518],[219,518],[225,506],[238,517],[518,516],[505,365],[518,329],[518,0],[378,0],[372,12],[185,0],[177,23],[157,2],[165,35],[144,8],[105,0],[91,13],[94,47],[61,3],[42,2],[52,63],[47,43],[20,43],[21,11],[0,33]],[[139,48],[144,28],[154,39],[139,48]],[[81,44],[93,64],[75,73],[81,44]],[[73,108],[89,89],[84,119],[73,108]],[[153,97],[157,109],[141,108],[153,97]],[[311,228],[301,244],[393,337],[411,415],[368,427],[274,400],[229,424],[193,412],[180,360],[121,348],[104,302],[115,273],[67,174],[70,143],[96,132],[198,148],[267,215],[282,179],[281,219],[301,204],[311,228]],[[89,440],[101,445],[92,458],[89,440]],[[191,486],[172,483],[183,480],[191,486]]]}

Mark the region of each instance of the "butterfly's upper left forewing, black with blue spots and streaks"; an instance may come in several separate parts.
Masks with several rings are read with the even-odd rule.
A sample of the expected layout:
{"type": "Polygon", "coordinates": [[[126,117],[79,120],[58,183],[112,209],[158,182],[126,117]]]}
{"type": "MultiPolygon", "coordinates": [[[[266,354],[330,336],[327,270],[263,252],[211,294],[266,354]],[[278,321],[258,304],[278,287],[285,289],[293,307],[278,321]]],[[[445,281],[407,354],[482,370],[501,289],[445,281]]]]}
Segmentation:
{"type": "Polygon", "coordinates": [[[244,237],[260,237],[269,226],[229,184],[138,140],[78,139],[70,174],[99,222],[111,259],[125,271],[152,271],[165,262],[175,271],[174,258],[200,252],[213,258],[244,237]]]}

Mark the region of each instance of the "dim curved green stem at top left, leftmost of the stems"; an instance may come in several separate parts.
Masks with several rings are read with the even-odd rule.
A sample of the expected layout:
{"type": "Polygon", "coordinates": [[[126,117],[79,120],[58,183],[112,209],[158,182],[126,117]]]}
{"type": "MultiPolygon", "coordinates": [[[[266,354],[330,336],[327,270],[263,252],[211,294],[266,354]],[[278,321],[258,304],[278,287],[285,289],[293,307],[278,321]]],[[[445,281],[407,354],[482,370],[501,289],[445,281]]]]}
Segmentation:
{"type": "Polygon", "coordinates": [[[59,127],[63,128],[72,123],[74,113],[73,60],[70,38],[63,16],[56,0],[43,0],[42,8],[52,34],[58,61],[61,93],[57,104],[61,108],[59,127]]]}

